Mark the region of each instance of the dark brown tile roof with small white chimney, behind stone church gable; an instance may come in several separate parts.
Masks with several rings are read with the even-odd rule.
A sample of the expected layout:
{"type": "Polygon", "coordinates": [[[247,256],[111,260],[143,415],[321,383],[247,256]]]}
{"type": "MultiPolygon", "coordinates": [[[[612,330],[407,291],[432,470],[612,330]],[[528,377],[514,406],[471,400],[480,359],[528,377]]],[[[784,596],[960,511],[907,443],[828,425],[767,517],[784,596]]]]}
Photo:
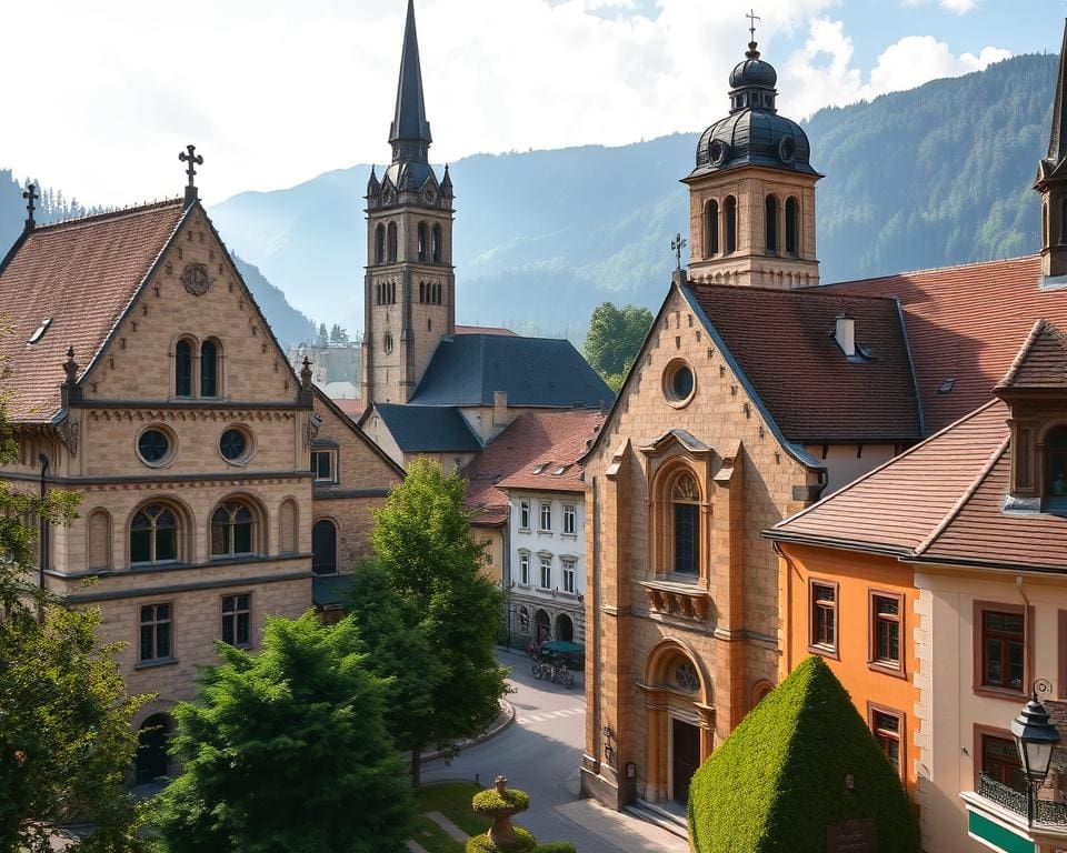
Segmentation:
{"type": "Polygon", "coordinates": [[[688,290],[790,441],[921,435],[894,300],[697,282],[688,290]],[[856,342],[872,358],[850,361],[837,345],[841,314],[854,319],[856,342]]]}

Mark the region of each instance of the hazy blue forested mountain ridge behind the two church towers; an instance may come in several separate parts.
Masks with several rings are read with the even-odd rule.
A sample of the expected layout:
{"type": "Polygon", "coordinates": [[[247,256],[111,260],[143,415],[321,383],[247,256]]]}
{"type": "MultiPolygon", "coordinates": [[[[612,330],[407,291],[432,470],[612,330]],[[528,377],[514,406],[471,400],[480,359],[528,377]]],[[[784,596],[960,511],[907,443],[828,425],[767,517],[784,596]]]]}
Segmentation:
{"type": "MultiPolygon", "coordinates": [[[[1056,57],[1028,56],[806,124],[825,282],[1038,249],[1030,190],[1047,147],[1056,57]]],[[[789,80],[782,76],[782,90],[789,80]]],[[[726,112],[708,100],[708,123],[726,112]]],[[[385,136],[385,133],[383,133],[385,136]]],[[[657,308],[675,232],[688,232],[696,134],[451,165],[460,322],[580,339],[605,300],[657,308]]],[[[383,145],[385,148],[385,145],[383,145]]],[[[362,328],[360,164],[212,208],[228,243],[315,317],[362,328]]]]}

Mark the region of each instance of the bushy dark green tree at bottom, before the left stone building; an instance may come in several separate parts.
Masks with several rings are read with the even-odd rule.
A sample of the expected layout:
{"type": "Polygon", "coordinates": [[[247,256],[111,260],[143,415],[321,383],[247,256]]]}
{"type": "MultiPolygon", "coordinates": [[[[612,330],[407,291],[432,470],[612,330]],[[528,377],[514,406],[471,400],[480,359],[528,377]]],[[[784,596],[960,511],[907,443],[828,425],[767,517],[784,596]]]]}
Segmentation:
{"type": "Polygon", "coordinates": [[[270,619],[262,649],[219,643],[174,709],[185,772],[160,795],[170,853],[392,853],[411,792],[383,722],[386,684],[355,623],[270,619]]]}

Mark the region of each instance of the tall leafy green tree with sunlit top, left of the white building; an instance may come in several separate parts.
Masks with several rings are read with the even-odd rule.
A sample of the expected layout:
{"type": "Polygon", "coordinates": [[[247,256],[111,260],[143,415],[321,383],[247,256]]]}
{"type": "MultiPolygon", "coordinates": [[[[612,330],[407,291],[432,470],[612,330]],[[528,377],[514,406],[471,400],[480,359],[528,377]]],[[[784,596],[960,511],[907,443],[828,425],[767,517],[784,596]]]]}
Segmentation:
{"type": "Polygon", "coordinates": [[[451,751],[458,739],[483,731],[507,692],[506,671],[492,655],[502,596],[481,573],[483,546],[468,535],[465,489],[458,473],[420,459],[375,511],[375,553],[405,602],[409,629],[426,636],[440,665],[426,725],[402,744],[411,750],[416,786],[422,750],[451,751]]]}

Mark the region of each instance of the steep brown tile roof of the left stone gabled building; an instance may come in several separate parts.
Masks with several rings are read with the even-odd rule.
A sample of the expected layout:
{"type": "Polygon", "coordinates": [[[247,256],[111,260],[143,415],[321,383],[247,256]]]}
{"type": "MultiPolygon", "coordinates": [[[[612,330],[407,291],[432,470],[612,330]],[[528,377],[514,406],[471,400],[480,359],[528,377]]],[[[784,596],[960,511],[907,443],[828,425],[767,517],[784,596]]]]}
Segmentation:
{"type": "Polygon", "coordinates": [[[84,375],[182,218],[181,200],[42,225],[0,265],[0,357],[11,375],[13,421],[50,420],[60,408],[68,347],[84,375]],[[34,330],[50,318],[37,343],[34,330]]]}

